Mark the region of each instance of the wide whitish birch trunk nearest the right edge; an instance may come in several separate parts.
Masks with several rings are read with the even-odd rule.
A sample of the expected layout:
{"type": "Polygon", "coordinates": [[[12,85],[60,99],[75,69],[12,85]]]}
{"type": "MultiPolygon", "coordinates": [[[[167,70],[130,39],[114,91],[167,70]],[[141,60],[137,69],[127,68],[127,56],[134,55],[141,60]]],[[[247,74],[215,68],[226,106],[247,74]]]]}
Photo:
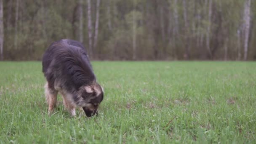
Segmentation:
{"type": "Polygon", "coordinates": [[[243,60],[247,60],[248,53],[248,40],[250,34],[250,8],[251,8],[251,0],[245,0],[245,10],[244,10],[244,57],[243,60]]]}

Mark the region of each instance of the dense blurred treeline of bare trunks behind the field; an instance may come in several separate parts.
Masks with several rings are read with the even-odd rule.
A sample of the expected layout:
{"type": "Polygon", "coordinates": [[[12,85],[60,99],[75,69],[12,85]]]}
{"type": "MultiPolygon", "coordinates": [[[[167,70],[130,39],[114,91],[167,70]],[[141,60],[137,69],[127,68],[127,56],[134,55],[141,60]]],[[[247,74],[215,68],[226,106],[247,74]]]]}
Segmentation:
{"type": "Polygon", "coordinates": [[[4,60],[40,60],[50,43],[64,38],[81,41],[99,60],[256,59],[254,0],[0,3],[4,60]]]}

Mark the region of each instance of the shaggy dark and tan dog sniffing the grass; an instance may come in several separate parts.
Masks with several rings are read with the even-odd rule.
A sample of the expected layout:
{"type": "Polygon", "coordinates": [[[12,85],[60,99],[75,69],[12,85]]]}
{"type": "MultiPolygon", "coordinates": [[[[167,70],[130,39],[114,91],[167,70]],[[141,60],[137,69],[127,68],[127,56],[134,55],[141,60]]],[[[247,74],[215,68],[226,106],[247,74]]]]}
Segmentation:
{"type": "Polygon", "coordinates": [[[42,66],[47,81],[48,115],[56,107],[58,93],[72,116],[76,115],[76,107],[82,107],[88,117],[98,113],[104,89],[96,82],[87,51],[80,42],[68,39],[53,42],[43,54],[42,66]]]}

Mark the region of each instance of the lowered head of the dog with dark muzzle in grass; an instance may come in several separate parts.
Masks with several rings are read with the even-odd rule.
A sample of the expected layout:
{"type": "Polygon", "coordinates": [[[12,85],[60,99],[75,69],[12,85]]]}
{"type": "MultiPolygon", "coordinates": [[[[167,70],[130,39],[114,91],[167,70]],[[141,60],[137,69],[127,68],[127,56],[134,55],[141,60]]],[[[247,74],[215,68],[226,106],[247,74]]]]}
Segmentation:
{"type": "Polygon", "coordinates": [[[104,90],[98,83],[86,85],[81,90],[81,97],[84,99],[83,110],[88,117],[98,113],[98,107],[104,97],[104,90]]]}

